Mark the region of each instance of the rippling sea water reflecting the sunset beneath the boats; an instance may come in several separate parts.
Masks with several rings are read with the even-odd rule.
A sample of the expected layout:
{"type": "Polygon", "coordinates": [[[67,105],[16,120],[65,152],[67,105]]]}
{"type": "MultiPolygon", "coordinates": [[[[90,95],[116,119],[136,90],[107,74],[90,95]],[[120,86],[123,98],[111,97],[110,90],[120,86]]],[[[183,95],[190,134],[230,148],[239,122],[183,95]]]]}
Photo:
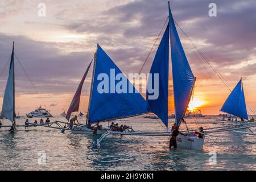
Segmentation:
{"type": "MultiPolygon", "coordinates": [[[[189,127],[203,127],[219,117],[186,119],[189,127]]],[[[64,118],[52,120],[65,121],[64,118]]],[[[79,119],[80,122],[84,118],[79,119]]],[[[25,119],[18,119],[23,124],[25,119]]],[[[34,119],[30,119],[34,121],[34,119]]],[[[38,119],[39,121],[39,119],[38,119]]],[[[156,119],[134,117],[115,121],[134,130],[164,130],[156,119]]],[[[3,125],[10,124],[2,120],[3,125]]],[[[174,119],[170,119],[174,123],[174,119]]],[[[108,125],[108,123],[104,123],[108,125]]],[[[181,127],[184,128],[182,125],[181,127]]],[[[0,170],[255,170],[255,137],[229,131],[205,138],[203,151],[168,149],[169,137],[109,136],[97,148],[97,136],[78,135],[44,127],[19,128],[15,135],[0,129],[0,170]],[[216,152],[216,164],[209,163],[216,152]],[[45,158],[44,155],[45,154],[45,158]],[[46,159],[46,160],[42,160],[46,159]],[[42,163],[43,161],[43,163],[42,163]],[[45,162],[45,163],[44,163],[45,162]]]]}

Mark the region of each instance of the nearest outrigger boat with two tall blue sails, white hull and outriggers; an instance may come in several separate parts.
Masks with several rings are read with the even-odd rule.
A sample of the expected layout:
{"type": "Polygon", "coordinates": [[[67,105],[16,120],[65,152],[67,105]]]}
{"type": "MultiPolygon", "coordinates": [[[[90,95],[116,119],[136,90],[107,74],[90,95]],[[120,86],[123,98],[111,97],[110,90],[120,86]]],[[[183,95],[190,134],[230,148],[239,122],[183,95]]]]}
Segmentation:
{"type": "MultiPolygon", "coordinates": [[[[181,45],[179,35],[176,30],[175,22],[170,9],[169,2],[169,23],[163,34],[162,40],[156,51],[154,61],[150,73],[155,73],[159,76],[159,97],[156,100],[150,100],[151,94],[147,92],[147,110],[152,112],[162,120],[167,127],[167,131],[137,131],[134,133],[122,133],[117,131],[109,131],[103,134],[98,140],[97,145],[100,148],[101,141],[109,135],[138,135],[138,136],[150,136],[150,137],[170,137],[172,132],[168,129],[168,68],[169,68],[169,35],[171,40],[171,62],[172,62],[172,77],[173,77],[173,89],[174,89],[174,105],[175,105],[175,123],[177,126],[181,125],[185,112],[187,111],[189,101],[193,93],[196,78],[193,75],[189,66],[187,57],[181,45]]],[[[153,78],[148,79],[148,85],[152,84],[153,78]]],[[[185,148],[191,148],[193,150],[203,150],[203,144],[205,136],[210,133],[219,133],[224,131],[242,130],[249,127],[255,127],[256,125],[232,125],[222,127],[212,127],[204,129],[203,138],[196,137],[195,131],[199,132],[199,129],[181,131],[187,134],[187,136],[178,135],[177,145],[185,148]]]]}

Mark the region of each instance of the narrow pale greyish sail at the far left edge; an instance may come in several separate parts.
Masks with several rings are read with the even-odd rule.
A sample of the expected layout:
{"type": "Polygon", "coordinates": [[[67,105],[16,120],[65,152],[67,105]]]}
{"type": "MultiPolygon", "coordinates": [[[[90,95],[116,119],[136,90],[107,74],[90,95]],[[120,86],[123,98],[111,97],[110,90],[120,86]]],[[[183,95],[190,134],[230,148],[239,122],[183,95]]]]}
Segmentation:
{"type": "Polygon", "coordinates": [[[3,96],[2,117],[14,122],[14,46],[11,53],[9,77],[7,80],[5,95],[3,96]]]}

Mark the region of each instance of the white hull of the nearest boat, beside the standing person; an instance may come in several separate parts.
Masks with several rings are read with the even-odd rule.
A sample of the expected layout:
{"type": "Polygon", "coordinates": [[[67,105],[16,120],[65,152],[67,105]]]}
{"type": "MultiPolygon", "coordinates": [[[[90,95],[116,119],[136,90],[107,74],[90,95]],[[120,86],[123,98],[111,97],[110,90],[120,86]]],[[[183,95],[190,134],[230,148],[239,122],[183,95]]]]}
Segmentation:
{"type": "MultiPolygon", "coordinates": [[[[204,137],[205,138],[205,137],[204,137]]],[[[178,146],[191,148],[193,150],[203,150],[204,138],[199,138],[196,136],[183,136],[178,135],[176,138],[176,142],[178,146]]]]}

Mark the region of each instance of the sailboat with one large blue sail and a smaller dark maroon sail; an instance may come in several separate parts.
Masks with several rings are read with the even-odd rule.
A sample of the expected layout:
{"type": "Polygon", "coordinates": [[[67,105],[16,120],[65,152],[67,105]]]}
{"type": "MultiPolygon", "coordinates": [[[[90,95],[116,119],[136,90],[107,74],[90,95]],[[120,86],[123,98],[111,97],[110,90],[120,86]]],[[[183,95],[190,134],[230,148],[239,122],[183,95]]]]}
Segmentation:
{"type": "MultiPolygon", "coordinates": [[[[92,85],[90,89],[88,114],[86,115],[86,125],[74,125],[72,127],[72,133],[76,134],[104,134],[108,131],[108,128],[101,128],[94,130],[91,125],[97,122],[114,121],[121,118],[129,118],[137,115],[148,113],[146,109],[146,101],[139,92],[134,88],[134,85],[127,79],[122,71],[114,64],[112,59],[106,54],[106,52],[98,45],[97,51],[93,59],[93,76],[92,85]],[[106,90],[104,93],[98,92],[98,86],[102,80],[99,80],[100,76],[104,74],[109,80],[105,80],[107,84],[111,85],[111,77],[122,75],[122,82],[126,83],[127,88],[132,88],[133,93],[117,93],[112,92],[112,88],[106,90]],[[114,74],[114,75],[113,75],[114,74]]],[[[69,121],[73,112],[79,111],[80,97],[82,85],[92,65],[86,69],[84,76],[76,90],[75,96],[67,111],[66,119],[69,121]]],[[[111,86],[110,86],[111,87],[111,86]]]]}

